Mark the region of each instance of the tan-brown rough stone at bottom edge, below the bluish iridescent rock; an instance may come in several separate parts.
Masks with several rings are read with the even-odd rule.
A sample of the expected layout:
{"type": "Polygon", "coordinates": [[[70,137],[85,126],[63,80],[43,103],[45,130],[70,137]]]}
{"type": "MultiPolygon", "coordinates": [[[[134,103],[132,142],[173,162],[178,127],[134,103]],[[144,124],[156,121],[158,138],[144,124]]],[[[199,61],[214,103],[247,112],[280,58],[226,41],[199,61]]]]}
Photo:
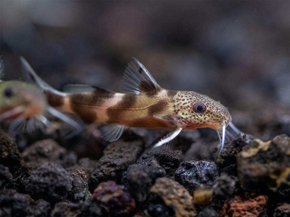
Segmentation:
{"type": "Polygon", "coordinates": [[[175,207],[175,216],[196,216],[197,209],[193,197],[178,182],[167,177],[156,179],[150,192],[160,196],[167,206],[175,207]]]}

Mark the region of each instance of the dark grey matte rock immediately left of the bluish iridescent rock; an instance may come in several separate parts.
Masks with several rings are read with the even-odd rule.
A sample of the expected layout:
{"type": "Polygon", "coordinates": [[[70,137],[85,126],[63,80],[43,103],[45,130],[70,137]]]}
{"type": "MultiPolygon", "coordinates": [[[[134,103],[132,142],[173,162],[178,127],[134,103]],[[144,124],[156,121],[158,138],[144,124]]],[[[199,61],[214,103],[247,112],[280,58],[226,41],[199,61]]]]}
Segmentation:
{"type": "Polygon", "coordinates": [[[151,161],[138,161],[130,165],[123,174],[123,182],[137,201],[144,201],[150,192],[151,186],[158,177],[165,176],[166,172],[155,158],[151,161]]]}

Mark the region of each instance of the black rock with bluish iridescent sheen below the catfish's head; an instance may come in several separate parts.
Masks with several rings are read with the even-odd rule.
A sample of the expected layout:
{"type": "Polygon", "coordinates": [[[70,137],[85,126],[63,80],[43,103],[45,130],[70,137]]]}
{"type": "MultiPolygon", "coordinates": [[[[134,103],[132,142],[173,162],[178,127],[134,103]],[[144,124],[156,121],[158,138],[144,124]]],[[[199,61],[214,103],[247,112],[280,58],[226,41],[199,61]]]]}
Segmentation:
{"type": "Polygon", "coordinates": [[[195,189],[213,186],[218,176],[218,166],[209,161],[184,161],[174,174],[191,195],[195,189]]]}

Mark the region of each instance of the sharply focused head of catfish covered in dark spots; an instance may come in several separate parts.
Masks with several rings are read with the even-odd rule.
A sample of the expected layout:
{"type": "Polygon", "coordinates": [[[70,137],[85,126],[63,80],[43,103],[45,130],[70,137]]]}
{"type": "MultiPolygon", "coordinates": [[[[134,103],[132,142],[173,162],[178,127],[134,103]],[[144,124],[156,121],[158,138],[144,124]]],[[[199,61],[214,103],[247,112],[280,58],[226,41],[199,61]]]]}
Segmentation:
{"type": "Polygon", "coordinates": [[[210,127],[218,130],[231,122],[229,111],[219,102],[192,91],[178,91],[174,115],[183,129],[210,127]]]}

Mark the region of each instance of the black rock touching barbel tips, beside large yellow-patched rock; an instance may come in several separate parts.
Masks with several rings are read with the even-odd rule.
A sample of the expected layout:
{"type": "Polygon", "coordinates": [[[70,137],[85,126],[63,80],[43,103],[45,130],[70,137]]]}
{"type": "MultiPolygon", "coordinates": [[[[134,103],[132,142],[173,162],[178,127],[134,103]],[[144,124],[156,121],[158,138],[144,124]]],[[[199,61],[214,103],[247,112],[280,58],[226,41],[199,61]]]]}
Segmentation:
{"type": "Polygon", "coordinates": [[[227,167],[237,163],[237,154],[244,146],[253,141],[251,135],[246,133],[239,133],[235,139],[225,143],[224,148],[218,156],[216,163],[220,168],[227,167]]]}

